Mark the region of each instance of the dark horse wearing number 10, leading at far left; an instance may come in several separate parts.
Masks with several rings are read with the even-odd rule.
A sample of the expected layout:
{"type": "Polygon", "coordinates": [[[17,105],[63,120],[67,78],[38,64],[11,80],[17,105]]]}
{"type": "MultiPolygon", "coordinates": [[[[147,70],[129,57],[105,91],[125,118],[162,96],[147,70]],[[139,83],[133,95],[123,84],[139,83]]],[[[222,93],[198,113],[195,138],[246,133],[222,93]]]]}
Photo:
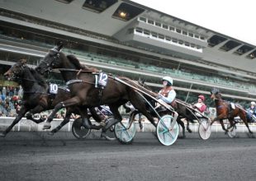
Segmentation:
{"type": "MultiPolygon", "coordinates": [[[[49,86],[46,84],[45,79],[33,68],[26,66],[26,59],[21,59],[15,63],[4,76],[13,81],[18,81],[24,91],[21,110],[18,113],[17,118],[15,118],[12,124],[0,134],[0,137],[5,137],[26,113],[26,118],[31,119],[33,122],[44,122],[44,118],[35,119],[32,117],[32,114],[54,109],[56,104],[68,100],[71,97],[69,90],[61,88],[59,88],[56,95],[50,94],[49,86]]],[[[77,112],[78,110],[75,108],[67,109],[64,121],[60,123],[57,128],[53,129],[51,133],[54,134],[55,132],[58,132],[66,123],[69,123],[70,115],[77,112]]],[[[90,112],[97,122],[101,121],[101,118],[97,115],[95,109],[90,109],[90,112]]]]}

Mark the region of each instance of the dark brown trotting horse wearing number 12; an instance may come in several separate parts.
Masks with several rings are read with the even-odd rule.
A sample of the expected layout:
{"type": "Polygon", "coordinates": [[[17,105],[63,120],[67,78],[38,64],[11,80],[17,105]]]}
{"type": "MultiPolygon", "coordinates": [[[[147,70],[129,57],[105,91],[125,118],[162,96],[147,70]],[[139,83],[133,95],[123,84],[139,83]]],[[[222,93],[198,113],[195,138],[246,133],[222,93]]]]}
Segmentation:
{"type": "MultiPolygon", "coordinates": [[[[141,95],[127,84],[135,87],[139,85],[126,77],[118,77],[120,81],[116,81],[116,77],[110,76],[107,78],[107,74],[100,74],[95,68],[82,66],[73,55],[66,56],[62,53],[62,47],[63,44],[60,43],[54,49],[50,49],[49,53],[45,55],[45,58],[36,67],[36,70],[41,74],[49,72],[52,68],[58,68],[72,94],[71,99],[65,100],[55,106],[55,109],[45,123],[45,128],[49,127],[55,114],[61,108],[79,105],[96,107],[101,104],[107,104],[114,115],[114,119],[104,125],[106,131],[111,125],[121,121],[122,118],[118,108],[127,101],[130,101],[135,106],[135,109],[138,109],[140,113],[144,114],[156,127],[154,118],[148,113],[141,95]],[[96,75],[98,77],[102,75],[102,81],[106,83],[105,86],[97,87],[95,83],[97,81],[96,75]]],[[[145,88],[140,87],[140,89],[144,89],[152,95],[152,92],[149,92],[145,88]]],[[[88,124],[87,117],[87,113],[82,115],[83,124],[86,128],[91,128],[91,125],[88,124]]]]}

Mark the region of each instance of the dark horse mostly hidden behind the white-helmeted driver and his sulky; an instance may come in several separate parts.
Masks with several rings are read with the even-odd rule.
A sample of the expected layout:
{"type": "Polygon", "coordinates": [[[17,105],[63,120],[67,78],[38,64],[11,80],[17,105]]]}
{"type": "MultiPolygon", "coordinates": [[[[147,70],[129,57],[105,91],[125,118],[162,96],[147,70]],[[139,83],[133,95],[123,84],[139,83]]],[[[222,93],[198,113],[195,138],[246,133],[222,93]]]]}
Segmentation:
{"type": "MultiPolygon", "coordinates": [[[[145,84],[145,80],[139,79],[138,82],[140,86],[144,86],[146,89],[150,90],[150,87],[145,84]]],[[[185,138],[185,124],[183,123],[182,119],[187,119],[187,132],[192,132],[192,130],[189,128],[189,123],[193,123],[193,120],[195,119],[198,120],[198,116],[195,114],[196,112],[194,109],[192,109],[192,106],[186,102],[183,102],[182,100],[175,99],[172,106],[173,109],[175,109],[175,111],[178,113],[178,118],[176,121],[183,128],[183,137],[181,138],[185,138]]]]}

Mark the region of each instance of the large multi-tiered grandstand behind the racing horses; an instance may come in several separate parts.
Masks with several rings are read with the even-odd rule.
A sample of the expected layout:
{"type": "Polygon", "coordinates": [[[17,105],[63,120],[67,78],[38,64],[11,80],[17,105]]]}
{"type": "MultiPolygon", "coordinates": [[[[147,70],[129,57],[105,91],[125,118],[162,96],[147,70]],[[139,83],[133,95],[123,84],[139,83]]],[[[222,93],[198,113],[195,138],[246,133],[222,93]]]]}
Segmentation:
{"type": "MultiPolygon", "coordinates": [[[[256,47],[128,0],[0,1],[0,72],[20,58],[36,66],[59,40],[64,53],[106,72],[144,78],[159,90],[173,77],[178,98],[220,88],[226,100],[256,100],[256,47]]],[[[58,73],[50,81],[64,84],[58,73]]],[[[207,104],[212,105],[209,96],[207,104]]]]}

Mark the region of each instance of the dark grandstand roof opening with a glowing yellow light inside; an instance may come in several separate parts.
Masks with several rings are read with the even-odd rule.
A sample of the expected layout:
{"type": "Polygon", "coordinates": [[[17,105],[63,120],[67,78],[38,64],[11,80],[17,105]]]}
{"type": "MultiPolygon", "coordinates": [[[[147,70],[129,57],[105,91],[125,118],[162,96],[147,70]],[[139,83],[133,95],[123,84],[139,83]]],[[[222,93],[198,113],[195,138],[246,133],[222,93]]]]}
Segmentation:
{"type": "Polygon", "coordinates": [[[133,5],[122,2],[121,5],[117,7],[116,12],[114,12],[112,17],[121,21],[130,21],[130,19],[133,19],[135,16],[140,15],[140,13],[144,11],[145,10],[140,7],[135,7],[133,5]]]}

